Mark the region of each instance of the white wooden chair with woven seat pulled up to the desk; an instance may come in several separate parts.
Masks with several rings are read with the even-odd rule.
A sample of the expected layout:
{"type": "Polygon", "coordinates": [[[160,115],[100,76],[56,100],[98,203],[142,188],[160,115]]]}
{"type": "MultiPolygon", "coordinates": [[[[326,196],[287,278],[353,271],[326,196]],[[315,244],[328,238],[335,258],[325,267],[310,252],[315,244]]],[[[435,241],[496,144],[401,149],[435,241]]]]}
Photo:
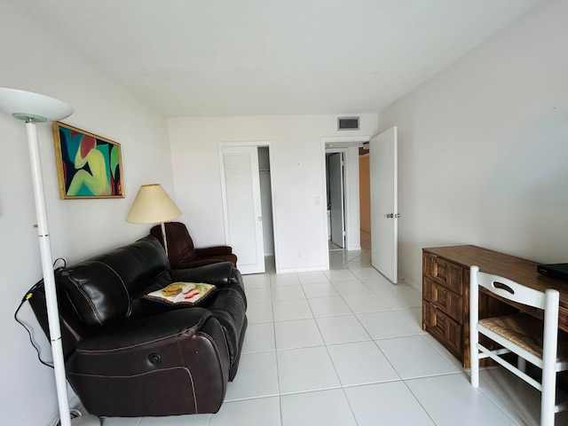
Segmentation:
{"type": "Polygon", "coordinates": [[[568,342],[558,339],[558,291],[527,288],[513,280],[480,272],[477,266],[471,266],[469,274],[471,385],[479,386],[479,359],[491,358],[540,390],[540,425],[553,426],[556,412],[567,407],[556,405],[556,373],[568,369],[568,342]],[[479,319],[479,286],[510,301],[543,310],[544,320],[522,312],[479,319]],[[488,349],[479,343],[478,334],[489,337],[501,348],[488,349]],[[517,355],[517,366],[502,357],[510,352],[517,355]],[[525,373],[525,361],[542,370],[540,382],[525,373]]]}

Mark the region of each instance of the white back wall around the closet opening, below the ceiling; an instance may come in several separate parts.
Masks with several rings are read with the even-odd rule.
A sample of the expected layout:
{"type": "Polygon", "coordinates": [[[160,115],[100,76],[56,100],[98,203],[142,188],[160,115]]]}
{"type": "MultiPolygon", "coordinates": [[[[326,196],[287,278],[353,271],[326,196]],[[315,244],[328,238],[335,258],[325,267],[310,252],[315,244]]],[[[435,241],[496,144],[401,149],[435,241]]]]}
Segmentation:
{"type": "MultiPolygon", "coordinates": [[[[349,134],[374,134],[376,114],[359,115],[361,129],[349,134]]],[[[326,269],[321,138],[346,135],[336,130],[336,120],[336,115],[170,119],[176,199],[195,245],[225,242],[218,142],[271,141],[277,268],[280,272],[326,269]],[[302,255],[298,257],[297,252],[302,255]]]]}

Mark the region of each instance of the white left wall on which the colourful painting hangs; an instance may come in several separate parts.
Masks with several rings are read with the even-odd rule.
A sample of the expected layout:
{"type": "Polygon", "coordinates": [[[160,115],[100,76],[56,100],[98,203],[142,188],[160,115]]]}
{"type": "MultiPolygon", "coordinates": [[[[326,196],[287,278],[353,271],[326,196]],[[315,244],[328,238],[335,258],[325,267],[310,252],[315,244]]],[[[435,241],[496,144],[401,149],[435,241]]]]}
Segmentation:
{"type": "MultiPolygon", "coordinates": [[[[125,199],[59,200],[50,124],[38,124],[53,256],[73,263],[145,235],[148,226],[124,221],[138,186],[160,182],[173,195],[165,119],[134,99],[67,43],[3,4],[0,13],[0,85],[36,91],[74,106],[68,124],[122,146],[125,199]]],[[[43,367],[25,330],[12,318],[22,296],[41,278],[26,130],[0,115],[0,423],[48,425],[57,415],[51,368],[43,367]]],[[[51,359],[26,304],[20,314],[51,359]]]]}

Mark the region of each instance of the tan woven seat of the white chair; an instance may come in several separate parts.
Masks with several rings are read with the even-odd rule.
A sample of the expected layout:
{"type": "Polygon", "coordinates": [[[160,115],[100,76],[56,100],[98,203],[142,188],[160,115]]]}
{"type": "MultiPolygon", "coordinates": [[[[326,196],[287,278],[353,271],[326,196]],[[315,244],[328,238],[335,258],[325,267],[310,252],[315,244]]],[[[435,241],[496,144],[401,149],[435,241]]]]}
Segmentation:
{"type": "MultiPolygon", "coordinates": [[[[516,343],[534,356],[542,358],[543,322],[540,319],[536,319],[526,313],[516,313],[501,317],[479,319],[479,325],[516,343]]],[[[556,359],[568,359],[568,339],[564,335],[558,335],[556,359]]]]}

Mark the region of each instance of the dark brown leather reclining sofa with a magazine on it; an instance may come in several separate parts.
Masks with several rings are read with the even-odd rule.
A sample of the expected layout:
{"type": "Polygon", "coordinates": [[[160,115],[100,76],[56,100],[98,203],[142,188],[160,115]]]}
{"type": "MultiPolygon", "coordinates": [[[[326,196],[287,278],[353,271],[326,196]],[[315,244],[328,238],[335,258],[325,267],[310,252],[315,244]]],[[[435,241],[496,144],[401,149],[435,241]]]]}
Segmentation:
{"type": "MultiPolygon", "coordinates": [[[[148,235],[56,273],[67,381],[99,416],[216,413],[237,372],[247,327],[240,272],[230,262],[171,270],[148,235]],[[217,290],[199,306],[143,296],[175,281],[217,290]]],[[[43,287],[29,299],[49,336],[43,287]]]]}

